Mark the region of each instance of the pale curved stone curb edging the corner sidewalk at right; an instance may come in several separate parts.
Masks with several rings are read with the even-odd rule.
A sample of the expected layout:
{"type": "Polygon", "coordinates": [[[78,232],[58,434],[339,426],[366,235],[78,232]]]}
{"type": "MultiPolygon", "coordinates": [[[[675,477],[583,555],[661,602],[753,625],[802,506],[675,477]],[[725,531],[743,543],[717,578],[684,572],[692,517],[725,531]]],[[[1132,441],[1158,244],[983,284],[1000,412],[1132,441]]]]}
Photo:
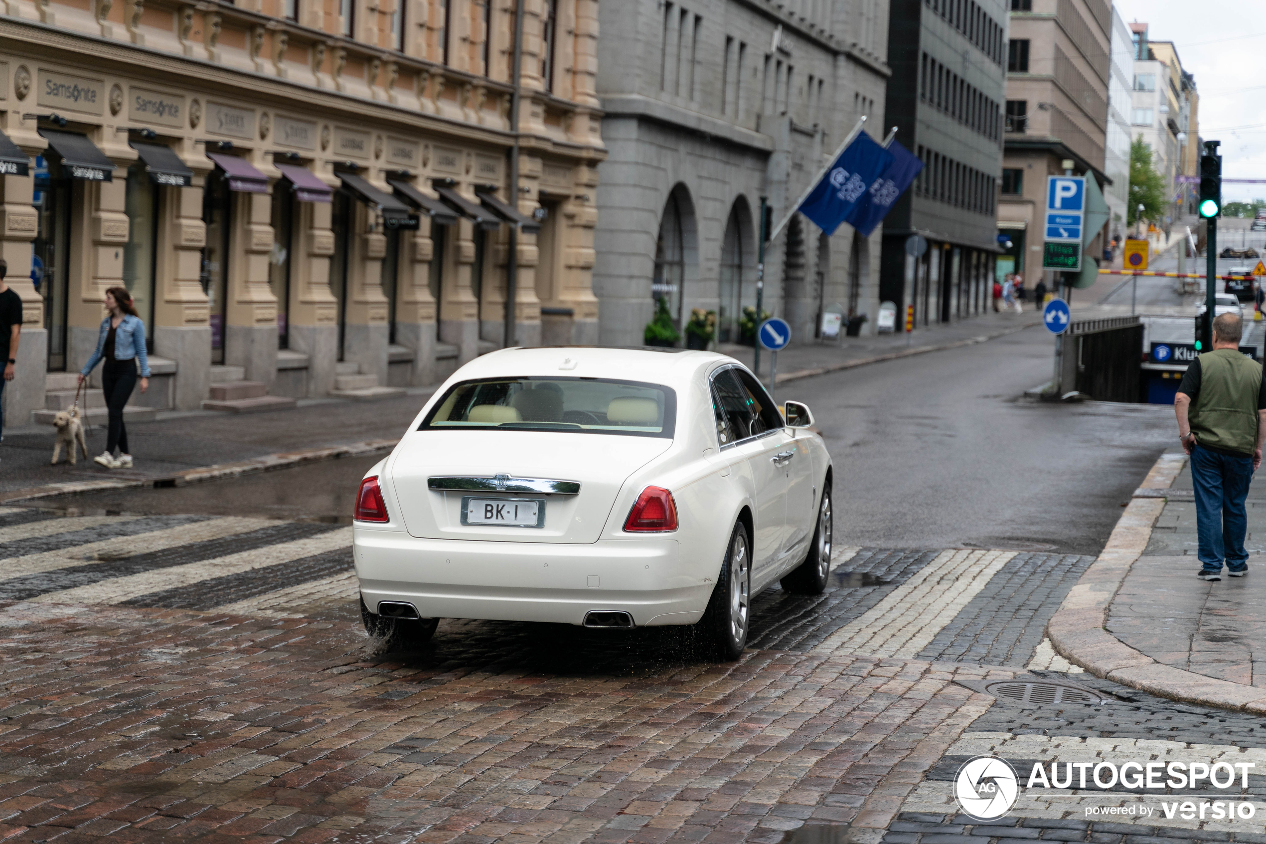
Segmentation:
{"type": "Polygon", "coordinates": [[[1266,692],[1214,680],[1156,662],[1108,629],[1108,610],[1122,582],[1147,548],[1152,525],[1165,509],[1169,490],[1182,469],[1184,454],[1161,454],[1117,521],[1108,544],[1046,625],[1056,653],[1091,674],[1160,697],[1266,715],[1266,692]]]}

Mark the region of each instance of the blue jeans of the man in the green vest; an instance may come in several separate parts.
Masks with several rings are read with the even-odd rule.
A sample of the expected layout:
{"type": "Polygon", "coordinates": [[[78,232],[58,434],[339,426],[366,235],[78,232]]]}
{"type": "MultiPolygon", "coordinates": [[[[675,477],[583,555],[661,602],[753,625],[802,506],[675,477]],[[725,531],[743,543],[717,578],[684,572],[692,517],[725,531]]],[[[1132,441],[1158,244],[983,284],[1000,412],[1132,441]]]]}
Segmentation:
{"type": "Polygon", "coordinates": [[[1195,447],[1191,452],[1191,483],[1195,486],[1195,530],[1200,542],[1200,566],[1206,572],[1248,567],[1244,533],[1248,515],[1244,499],[1253,480],[1253,458],[1229,457],[1195,447]]]}

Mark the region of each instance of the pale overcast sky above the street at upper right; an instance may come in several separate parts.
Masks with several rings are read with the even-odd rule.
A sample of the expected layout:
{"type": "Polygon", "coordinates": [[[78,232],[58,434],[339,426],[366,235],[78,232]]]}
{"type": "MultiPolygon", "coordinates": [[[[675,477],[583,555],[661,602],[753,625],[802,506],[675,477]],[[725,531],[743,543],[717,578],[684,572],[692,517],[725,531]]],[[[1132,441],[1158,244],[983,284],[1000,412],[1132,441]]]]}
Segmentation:
{"type": "MultiPolygon", "coordinates": [[[[1200,137],[1220,140],[1224,178],[1266,180],[1266,1],[1115,0],[1127,24],[1172,40],[1200,91],[1200,137]]],[[[1224,185],[1223,201],[1266,197],[1266,183],[1224,185]]]]}

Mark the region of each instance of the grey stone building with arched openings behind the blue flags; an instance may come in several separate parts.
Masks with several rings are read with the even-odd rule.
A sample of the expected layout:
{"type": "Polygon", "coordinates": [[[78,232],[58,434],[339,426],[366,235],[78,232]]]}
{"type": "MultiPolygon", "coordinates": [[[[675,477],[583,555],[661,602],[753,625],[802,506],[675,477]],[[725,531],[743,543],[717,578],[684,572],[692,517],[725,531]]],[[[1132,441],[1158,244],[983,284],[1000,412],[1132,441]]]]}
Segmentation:
{"type": "MultiPolygon", "coordinates": [[[[639,345],[657,300],[679,328],[756,304],[761,197],[777,223],[857,119],[882,138],[887,0],[620,0],[600,9],[594,292],[604,344],[639,345]]],[[[812,342],[824,310],[877,310],[879,232],[796,215],[768,248],[763,307],[812,342]]]]}

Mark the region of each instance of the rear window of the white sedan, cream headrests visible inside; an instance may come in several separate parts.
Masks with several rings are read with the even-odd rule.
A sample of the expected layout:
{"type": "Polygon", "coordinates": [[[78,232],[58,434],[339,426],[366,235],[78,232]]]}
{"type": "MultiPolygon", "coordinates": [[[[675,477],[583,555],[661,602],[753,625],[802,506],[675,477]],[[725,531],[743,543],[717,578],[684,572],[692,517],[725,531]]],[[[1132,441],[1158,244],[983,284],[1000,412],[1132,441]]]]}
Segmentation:
{"type": "Polygon", "coordinates": [[[486,378],[453,386],[418,430],[543,430],[672,438],[676,394],[608,378],[486,378]]]}

